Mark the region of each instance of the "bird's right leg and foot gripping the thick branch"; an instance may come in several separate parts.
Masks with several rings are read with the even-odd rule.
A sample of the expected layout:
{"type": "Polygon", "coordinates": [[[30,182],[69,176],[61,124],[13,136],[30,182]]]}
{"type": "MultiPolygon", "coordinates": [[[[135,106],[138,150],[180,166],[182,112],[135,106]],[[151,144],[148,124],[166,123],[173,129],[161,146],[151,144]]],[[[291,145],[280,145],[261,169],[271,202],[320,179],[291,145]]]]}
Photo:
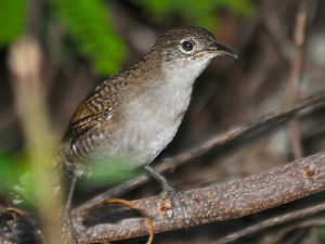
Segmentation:
{"type": "Polygon", "coordinates": [[[193,196],[191,196],[184,192],[181,192],[181,191],[178,191],[177,189],[174,189],[174,187],[171,183],[169,183],[168,180],[162,175],[160,175],[159,172],[154,170],[151,166],[146,165],[146,166],[144,166],[144,169],[147,174],[150,174],[152,177],[154,177],[161,184],[162,193],[167,194],[172,200],[172,202],[174,202],[174,200],[177,200],[177,202],[180,203],[183,215],[184,215],[184,219],[185,219],[186,223],[190,223],[190,217],[188,217],[188,213],[186,209],[186,204],[184,203],[184,198],[191,198],[194,201],[197,201],[197,200],[195,200],[193,196]]]}

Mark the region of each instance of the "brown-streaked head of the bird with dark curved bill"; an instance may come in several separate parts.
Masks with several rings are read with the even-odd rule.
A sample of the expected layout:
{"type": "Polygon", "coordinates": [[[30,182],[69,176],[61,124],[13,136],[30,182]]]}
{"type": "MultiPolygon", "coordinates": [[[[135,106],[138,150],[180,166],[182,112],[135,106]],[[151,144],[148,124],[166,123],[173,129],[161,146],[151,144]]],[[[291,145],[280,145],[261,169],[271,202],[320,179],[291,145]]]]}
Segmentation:
{"type": "Polygon", "coordinates": [[[237,59],[237,54],[220,44],[211,33],[194,26],[168,30],[157,39],[151,53],[158,56],[165,73],[194,79],[218,55],[237,59]]]}

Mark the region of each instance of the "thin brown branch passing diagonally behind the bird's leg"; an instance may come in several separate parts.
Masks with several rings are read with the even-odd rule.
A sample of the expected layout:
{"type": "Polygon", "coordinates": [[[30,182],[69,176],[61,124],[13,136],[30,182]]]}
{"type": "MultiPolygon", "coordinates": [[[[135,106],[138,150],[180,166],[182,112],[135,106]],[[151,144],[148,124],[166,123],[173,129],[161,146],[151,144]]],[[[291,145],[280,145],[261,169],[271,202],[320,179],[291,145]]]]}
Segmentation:
{"type": "MultiPolygon", "coordinates": [[[[324,102],[325,91],[317,92],[306,99],[301,99],[299,102],[292,105],[262,115],[252,123],[236,126],[233,129],[230,129],[229,131],[221,134],[216,133],[211,137],[211,139],[199,143],[199,145],[193,146],[192,149],[188,149],[174,157],[162,159],[162,162],[160,162],[155,169],[159,172],[172,170],[178,166],[184,165],[185,163],[204,155],[212,149],[225,145],[226,143],[231,143],[239,138],[243,138],[244,136],[247,136],[250,132],[257,131],[258,129],[268,126],[270,127],[275,123],[289,118],[290,116],[295,115],[297,112],[302,111],[303,108],[312,107],[324,102]]],[[[78,207],[78,210],[89,208],[92,205],[96,205],[106,198],[121,195],[127,191],[135,189],[136,187],[145,183],[147,180],[148,176],[146,174],[139,175],[138,177],[130,179],[113,189],[109,189],[108,191],[98,195],[96,197],[83,203],[81,206],[78,207]]]]}

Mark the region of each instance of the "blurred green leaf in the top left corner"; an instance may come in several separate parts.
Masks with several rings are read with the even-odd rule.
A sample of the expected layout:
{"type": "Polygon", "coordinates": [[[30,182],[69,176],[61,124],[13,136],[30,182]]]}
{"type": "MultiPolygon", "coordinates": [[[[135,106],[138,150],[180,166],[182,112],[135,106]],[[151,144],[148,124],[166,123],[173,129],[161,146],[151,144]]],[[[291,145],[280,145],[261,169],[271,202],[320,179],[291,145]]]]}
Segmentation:
{"type": "Polygon", "coordinates": [[[0,0],[0,47],[14,41],[25,25],[25,0],[0,0]]]}

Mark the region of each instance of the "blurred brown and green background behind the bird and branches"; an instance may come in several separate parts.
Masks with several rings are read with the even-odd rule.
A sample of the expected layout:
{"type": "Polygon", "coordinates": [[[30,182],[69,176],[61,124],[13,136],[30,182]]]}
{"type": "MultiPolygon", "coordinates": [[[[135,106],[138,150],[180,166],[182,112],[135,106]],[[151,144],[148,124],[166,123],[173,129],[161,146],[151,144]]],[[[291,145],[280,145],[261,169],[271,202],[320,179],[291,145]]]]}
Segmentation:
{"type": "MultiPolygon", "coordinates": [[[[198,78],[190,111],[159,158],[325,89],[325,1],[321,0],[306,1],[303,64],[299,84],[290,84],[299,2],[0,0],[0,206],[36,209],[35,191],[42,182],[37,162],[46,162],[41,167],[51,165],[52,152],[78,103],[105,77],[138,62],[171,27],[208,28],[239,59],[218,57],[198,78]]],[[[320,107],[299,120],[303,156],[325,150],[324,112],[320,107]]],[[[296,157],[288,126],[282,125],[211,150],[167,177],[179,189],[193,189],[250,176],[296,157]]],[[[76,202],[106,188],[107,182],[79,188],[76,202]]],[[[153,181],[126,197],[158,191],[153,181]]],[[[155,243],[210,243],[321,196],[238,220],[158,234],[155,243]]],[[[261,231],[238,243],[325,243],[324,228],[280,230],[261,231]]]]}

